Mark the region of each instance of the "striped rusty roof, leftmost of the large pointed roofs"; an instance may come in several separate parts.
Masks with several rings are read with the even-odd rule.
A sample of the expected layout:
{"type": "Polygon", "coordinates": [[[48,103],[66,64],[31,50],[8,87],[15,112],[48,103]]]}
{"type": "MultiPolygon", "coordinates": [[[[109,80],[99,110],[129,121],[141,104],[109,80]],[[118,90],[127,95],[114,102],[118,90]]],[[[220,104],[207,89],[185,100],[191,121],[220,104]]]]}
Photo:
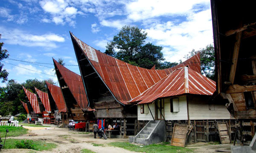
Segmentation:
{"type": "MultiPolygon", "coordinates": [[[[23,87],[23,86],[22,86],[23,87]]],[[[23,87],[23,90],[25,91],[26,93],[26,96],[28,97],[29,99],[29,102],[33,108],[33,111],[36,113],[36,114],[41,114],[40,112],[40,108],[39,108],[39,103],[38,103],[38,99],[37,99],[37,96],[35,93],[32,93],[30,92],[29,90],[27,90],[25,87],[23,87]]]]}

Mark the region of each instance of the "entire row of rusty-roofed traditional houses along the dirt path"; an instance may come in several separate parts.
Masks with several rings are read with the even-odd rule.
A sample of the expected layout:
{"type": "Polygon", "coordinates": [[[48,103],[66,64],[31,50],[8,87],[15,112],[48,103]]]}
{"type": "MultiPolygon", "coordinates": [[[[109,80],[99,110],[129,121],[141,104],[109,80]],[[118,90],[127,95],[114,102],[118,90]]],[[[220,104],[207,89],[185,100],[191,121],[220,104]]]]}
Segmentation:
{"type": "MultiPolygon", "coordinates": [[[[172,139],[174,124],[179,123],[193,127],[188,142],[216,141],[217,123],[226,122],[232,139],[238,125],[240,140],[252,139],[256,20],[253,9],[238,12],[238,2],[229,5],[211,1],[217,90],[215,81],[201,75],[199,54],[169,69],[144,69],[106,55],[70,32],[81,76],[53,59],[60,87],[47,83],[48,102],[47,93],[36,89],[33,95],[23,88],[28,97],[23,106],[28,113],[58,112],[63,124],[68,119],[118,122],[121,136],[134,136],[150,123],[163,122],[164,140],[172,139]]],[[[138,139],[154,130],[147,129],[138,139]]]]}

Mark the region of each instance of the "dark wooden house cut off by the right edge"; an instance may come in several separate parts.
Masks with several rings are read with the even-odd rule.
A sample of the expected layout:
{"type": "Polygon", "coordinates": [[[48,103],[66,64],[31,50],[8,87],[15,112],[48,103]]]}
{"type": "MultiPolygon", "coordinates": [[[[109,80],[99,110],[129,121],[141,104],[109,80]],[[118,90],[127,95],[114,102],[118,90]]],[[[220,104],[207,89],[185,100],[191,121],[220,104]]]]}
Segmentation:
{"type": "MultiPolygon", "coordinates": [[[[251,141],[256,126],[255,1],[211,0],[217,75],[216,97],[238,119],[239,139],[251,141]]],[[[238,137],[237,137],[238,139],[238,137]]]]}

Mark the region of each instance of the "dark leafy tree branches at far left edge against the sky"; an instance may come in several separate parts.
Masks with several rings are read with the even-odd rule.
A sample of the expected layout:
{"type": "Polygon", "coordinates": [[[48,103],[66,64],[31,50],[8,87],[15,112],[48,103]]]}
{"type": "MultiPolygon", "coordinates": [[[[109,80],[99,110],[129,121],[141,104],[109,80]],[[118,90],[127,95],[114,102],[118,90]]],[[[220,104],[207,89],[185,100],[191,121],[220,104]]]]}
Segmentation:
{"type": "MultiPolygon", "coordinates": [[[[0,34],[0,39],[1,39],[1,34],[0,34]]],[[[8,51],[6,49],[2,49],[3,47],[3,42],[0,42],[0,61],[2,61],[3,59],[6,59],[9,57],[8,51]]],[[[2,79],[2,82],[7,81],[7,77],[9,75],[9,73],[6,71],[6,69],[3,69],[3,64],[0,63],[0,79],[2,79]]]]}

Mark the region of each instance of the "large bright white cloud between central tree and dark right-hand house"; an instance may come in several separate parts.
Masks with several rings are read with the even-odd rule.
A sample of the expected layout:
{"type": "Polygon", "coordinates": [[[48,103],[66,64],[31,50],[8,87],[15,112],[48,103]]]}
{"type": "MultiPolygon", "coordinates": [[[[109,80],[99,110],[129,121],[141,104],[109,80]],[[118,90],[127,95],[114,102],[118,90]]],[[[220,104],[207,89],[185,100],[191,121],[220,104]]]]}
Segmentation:
{"type": "Polygon", "coordinates": [[[213,42],[210,9],[190,14],[187,19],[178,25],[169,21],[145,29],[149,40],[164,47],[167,61],[183,59],[192,49],[198,50],[213,42]]]}

